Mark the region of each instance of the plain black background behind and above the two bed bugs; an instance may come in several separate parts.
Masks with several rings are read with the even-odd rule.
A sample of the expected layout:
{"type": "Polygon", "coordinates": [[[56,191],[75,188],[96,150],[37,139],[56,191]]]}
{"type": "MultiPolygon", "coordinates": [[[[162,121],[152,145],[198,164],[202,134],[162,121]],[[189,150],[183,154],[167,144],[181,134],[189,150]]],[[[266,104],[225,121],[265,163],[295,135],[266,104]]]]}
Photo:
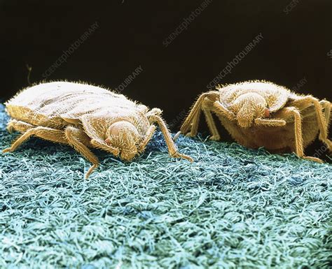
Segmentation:
{"type": "Polygon", "coordinates": [[[291,0],[213,0],[165,48],[165,38],[202,2],[1,1],[0,99],[28,86],[26,64],[32,66],[31,82],[39,82],[97,22],[97,30],[48,80],[114,88],[141,66],[143,72],[122,93],[161,108],[167,122],[175,121],[172,131],[181,124],[178,116],[260,33],[263,40],[222,84],[263,79],[292,88],[305,78],[299,93],[332,101],[330,0],[293,0],[288,14],[291,0]]]}

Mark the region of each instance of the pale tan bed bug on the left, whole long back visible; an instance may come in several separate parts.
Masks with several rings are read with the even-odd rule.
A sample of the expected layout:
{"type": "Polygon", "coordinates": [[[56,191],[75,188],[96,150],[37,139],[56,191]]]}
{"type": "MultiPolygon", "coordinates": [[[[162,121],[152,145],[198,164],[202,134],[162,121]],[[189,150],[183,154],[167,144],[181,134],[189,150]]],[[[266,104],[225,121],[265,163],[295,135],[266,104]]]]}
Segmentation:
{"type": "Polygon", "coordinates": [[[86,177],[99,164],[89,147],[131,161],[144,152],[155,132],[154,123],[160,127],[171,157],[193,161],[177,151],[159,108],[149,110],[102,87],[63,81],[42,83],[23,89],[6,102],[6,111],[12,118],[8,131],[22,135],[3,152],[13,152],[30,136],[68,144],[93,164],[86,177]]]}

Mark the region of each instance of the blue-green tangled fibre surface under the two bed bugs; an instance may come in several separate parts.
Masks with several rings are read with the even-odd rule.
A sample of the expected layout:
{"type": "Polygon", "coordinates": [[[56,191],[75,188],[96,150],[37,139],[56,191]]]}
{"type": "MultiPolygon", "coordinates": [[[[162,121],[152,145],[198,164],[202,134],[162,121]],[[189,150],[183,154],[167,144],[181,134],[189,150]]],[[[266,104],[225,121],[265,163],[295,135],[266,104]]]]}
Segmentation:
{"type": "MultiPolygon", "coordinates": [[[[5,131],[0,145],[17,133],[5,131]]],[[[331,268],[332,166],[160,133],[123,163],[31,138],[0,154],[0,268],[331,268]]]]}

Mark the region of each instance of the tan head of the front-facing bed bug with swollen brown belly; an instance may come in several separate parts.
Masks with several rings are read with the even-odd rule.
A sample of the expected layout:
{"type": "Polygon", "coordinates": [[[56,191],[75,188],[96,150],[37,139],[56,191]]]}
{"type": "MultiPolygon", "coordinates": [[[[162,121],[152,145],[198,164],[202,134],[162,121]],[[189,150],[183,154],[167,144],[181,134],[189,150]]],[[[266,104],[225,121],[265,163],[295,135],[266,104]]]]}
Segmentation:
{"type": "Polygon", "coordinates": [[[270,110],[263,96],[255,92],[242,94],[233,103],[237,124],[242,128],[250,127],[254,119],[270,117],[270,110]]]}

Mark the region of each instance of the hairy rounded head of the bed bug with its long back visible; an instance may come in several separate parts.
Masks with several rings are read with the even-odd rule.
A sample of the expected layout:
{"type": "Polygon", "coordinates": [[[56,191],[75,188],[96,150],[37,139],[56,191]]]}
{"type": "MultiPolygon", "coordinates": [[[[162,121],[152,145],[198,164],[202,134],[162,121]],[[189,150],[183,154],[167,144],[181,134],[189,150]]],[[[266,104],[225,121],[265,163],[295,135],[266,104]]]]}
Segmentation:
{"type": "Polygon", "coordinates": [[[130,122],[115,122],[106,131],[105,143],[118,148],[121,159],[125,161],[130,161],[138,153],[136,147],[138,140],[139,133],[130,122]]]}

